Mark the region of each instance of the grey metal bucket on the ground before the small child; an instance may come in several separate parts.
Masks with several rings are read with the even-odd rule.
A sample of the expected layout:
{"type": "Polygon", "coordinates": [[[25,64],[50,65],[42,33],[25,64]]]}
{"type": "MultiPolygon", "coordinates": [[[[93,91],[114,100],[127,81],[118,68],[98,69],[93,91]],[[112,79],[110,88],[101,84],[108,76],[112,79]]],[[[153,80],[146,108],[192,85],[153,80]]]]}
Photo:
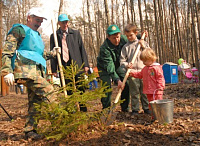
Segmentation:
{"type": "Polygon", "coordinates": [[[155,120],[159,123],[172,123],[174,115],[174,101],[171,99],[153,100],[150,102],[155,120]]]}

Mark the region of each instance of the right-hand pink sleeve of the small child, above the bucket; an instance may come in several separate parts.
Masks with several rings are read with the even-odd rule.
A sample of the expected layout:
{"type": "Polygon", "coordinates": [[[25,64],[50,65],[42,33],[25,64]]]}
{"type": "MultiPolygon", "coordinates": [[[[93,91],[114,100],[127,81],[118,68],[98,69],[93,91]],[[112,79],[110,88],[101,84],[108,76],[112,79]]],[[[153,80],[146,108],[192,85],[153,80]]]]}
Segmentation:
{"type": "Polygon", "coordinates": [[[163,70],[162,70],[161,65],[156,69],[156,81],[157,81],[157,89],[164,90],[165,79],[164,79],[163,70]]]}

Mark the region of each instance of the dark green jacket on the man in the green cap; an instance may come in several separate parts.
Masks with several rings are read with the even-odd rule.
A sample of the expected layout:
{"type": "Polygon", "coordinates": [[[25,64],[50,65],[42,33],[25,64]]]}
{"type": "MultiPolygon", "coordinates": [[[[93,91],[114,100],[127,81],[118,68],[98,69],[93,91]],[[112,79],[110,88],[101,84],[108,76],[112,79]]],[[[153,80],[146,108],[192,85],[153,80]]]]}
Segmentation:
{"type": "Polygon", "coordinates": [[[123,78],[125,73],[120,67],[120,56],[122,47],[127,43],[127,38],[121,35],[120,43],[114,46],[108,38],[100,47],[99,56],[97,57],[97,67],[100,77],[109,75],[113,81],[123,78]]]}

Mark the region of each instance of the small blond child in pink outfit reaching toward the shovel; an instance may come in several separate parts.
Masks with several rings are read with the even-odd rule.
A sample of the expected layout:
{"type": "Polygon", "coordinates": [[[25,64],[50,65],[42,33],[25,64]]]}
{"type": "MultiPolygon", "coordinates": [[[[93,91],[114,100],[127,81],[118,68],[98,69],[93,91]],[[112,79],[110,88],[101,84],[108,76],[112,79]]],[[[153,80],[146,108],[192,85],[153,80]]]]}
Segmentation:
{"type": "MultiPolygon", "coordinates": [[[[144,49],[140,55],[140,59],[143,61],[145,67],[141,72],[130,71],[129,76],[143,79],[143,93],[147,95],[149,102],[162,99],[165,88],[162,65],[155,63],[157,57],[151,48],[144,49]]],[[[149,109],[151,109],[150,104],[149,109]]]]}

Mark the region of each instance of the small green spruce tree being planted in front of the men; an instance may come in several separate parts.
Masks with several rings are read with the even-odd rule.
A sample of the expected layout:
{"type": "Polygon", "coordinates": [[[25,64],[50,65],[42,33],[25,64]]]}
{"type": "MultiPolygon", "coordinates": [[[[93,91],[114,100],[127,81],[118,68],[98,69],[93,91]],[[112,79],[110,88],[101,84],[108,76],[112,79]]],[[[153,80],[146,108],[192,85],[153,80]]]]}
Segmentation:
{"type": "Polygon", "coordinates": [[[81,68],[82,66],[78,68],[78,65],[73,62],[71,66],[68,66],[66,69],[63,68],[65,78],[71,81],[66,84],[64,89],[71,91],[72,95],[65,97],[61,93],[64,89],[59,88],[55,90],[55,92],[60,93],[57,96],[59,102],[44,102],[41,105],[35,105],[39,111],[39,114],[35,117],[37,122],[40,121],[38,131],[45,135],[47,139],[60,140],[66,138],[70,133],[81,129],[81,126],[87,125],[93,120],[100,119],[101,114],[98,112],[79,111],[78,103],[85,104],[87,108],[92,108],[94,106],[91,105],[92,101],[106,97],[105,93],[111,92],[111,89],[108,89],[101,82],[99,88],[93,91],[80,91],[80,88],[88,88],[89,82],[96,77],[95,74],[90,74],[88,75],[88,79],[85,79],[85,73],[82,73],[79,80],[75,81],[75,76],[83,72],[81,68]]]}

